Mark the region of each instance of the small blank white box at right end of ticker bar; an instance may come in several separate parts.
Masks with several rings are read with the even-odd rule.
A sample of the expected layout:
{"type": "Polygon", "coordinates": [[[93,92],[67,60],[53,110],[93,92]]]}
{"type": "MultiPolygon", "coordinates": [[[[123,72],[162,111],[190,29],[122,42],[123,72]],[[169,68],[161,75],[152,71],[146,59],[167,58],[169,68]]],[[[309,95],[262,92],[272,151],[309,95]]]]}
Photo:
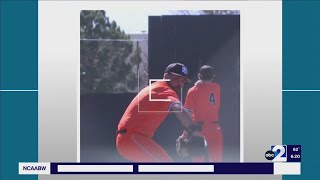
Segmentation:
{"type": "Polygon", "coordinates": [[[273,174],[278,175],[300,175],[301,163],[288,162],[288,163],[274,163],[273,174]]]}

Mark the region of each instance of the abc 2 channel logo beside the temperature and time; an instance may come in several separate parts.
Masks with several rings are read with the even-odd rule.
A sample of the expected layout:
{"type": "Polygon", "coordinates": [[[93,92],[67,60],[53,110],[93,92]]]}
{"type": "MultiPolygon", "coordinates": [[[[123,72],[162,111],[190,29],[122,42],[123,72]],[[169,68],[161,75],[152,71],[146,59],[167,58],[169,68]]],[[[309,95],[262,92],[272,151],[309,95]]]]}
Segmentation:
{"type": "Polygon", "coordinates": [[[275,145],[271,146],[271,150],[265,153],[265,158],[273,162],[286,162],[287,161],[287,146],[275,145]]]}

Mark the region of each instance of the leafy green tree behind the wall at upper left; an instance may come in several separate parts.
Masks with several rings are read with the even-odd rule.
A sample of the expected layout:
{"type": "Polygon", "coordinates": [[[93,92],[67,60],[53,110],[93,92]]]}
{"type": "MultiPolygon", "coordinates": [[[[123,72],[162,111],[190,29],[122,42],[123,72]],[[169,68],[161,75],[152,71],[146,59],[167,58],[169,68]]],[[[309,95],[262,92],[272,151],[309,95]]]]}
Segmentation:
{"type": "Polygon", "coordinates": [[[134,54],[133,42],[115,21],[110,22],[105,11],[80,12],[80,38],[81,94],[137,89],[133,67],[139,61],[129,58],[134,54]]]}

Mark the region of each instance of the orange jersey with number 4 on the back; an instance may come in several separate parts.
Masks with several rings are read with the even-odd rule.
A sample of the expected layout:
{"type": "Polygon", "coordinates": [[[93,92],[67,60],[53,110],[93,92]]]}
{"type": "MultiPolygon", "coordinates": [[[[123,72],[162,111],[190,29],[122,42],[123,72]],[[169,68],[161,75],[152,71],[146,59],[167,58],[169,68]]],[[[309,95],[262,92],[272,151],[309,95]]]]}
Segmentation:
{"type": "Polygon", "coordinates": [[[204,82],[189,89],[186,108],[193,111],[194,121],[218,121],[220,110],[220,85],[215,82],[204,82]]]}

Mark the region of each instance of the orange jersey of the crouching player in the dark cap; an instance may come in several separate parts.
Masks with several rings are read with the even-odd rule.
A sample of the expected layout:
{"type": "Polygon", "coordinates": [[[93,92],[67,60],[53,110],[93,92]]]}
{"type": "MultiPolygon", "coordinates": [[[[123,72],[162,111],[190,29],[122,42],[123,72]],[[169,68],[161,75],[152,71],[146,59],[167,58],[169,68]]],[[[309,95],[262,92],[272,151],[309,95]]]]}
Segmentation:
{"type": "Polygon", "coordinates": [[[171,104],[180,102],[176,92],[170,88],[167,82],[158,81],[150,86],[142,89],[132,100],[119,122],[118,130],[126,129],[152,137],[167,117],[171,104]],[[150,98],[170,101],[150,101],[150,98]]]}

